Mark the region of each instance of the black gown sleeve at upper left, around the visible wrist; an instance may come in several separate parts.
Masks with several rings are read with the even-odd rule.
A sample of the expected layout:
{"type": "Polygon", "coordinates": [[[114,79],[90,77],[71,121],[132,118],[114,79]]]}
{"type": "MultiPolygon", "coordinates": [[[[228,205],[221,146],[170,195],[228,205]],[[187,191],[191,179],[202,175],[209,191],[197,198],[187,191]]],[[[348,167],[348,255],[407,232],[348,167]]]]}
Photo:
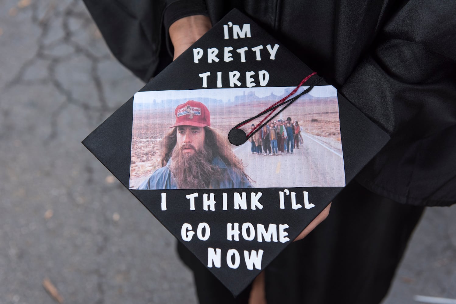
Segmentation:
{"type": "Polygon", "coordinates": [[[204,0],[83,0],[113,55],[147,82],[172,61],[168,28],[207,15],[204,0]]]}

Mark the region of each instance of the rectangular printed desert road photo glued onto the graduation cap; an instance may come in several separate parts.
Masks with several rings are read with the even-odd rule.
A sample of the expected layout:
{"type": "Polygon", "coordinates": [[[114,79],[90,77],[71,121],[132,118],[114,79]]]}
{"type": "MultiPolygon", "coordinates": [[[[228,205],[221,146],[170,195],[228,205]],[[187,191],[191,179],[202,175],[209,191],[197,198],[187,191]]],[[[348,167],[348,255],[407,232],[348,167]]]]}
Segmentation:
{"type": "MultiPolygon", "coordinates": [[[[337,92],[316,86],[263,127],[258,117],[294,87],[144,91],[134,97],[130,189],[343,187],[337,92]]],[[[300,91],[306,87],[301,87],[300,91]]],[[[298,93],[300,92],[298,91],[298,93]]]]}

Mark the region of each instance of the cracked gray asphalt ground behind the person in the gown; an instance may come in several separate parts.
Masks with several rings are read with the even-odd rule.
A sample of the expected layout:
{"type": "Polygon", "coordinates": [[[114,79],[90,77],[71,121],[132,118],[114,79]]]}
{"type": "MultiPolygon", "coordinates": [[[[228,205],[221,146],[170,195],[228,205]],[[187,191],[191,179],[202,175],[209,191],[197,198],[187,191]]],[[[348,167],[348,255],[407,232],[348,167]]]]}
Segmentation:
{"type": "MultiPolygon", "coordinates": [[[[143,84],[80,1],[0,0],[0,304],[196,303],[174,238],[80,143],[143,84]]],[[[427,210],[384,303],[456,298],[456,207],[427,210]]]]}

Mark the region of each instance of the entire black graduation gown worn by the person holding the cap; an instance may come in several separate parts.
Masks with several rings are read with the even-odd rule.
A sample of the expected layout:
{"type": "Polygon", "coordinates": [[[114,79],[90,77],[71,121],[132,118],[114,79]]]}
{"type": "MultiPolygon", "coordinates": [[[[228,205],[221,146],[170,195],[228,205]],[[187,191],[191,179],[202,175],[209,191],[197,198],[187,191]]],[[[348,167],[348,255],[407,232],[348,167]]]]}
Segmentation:
{"type": "MultiPolygon", "coordinates": [[[[269,304],[378,303],[422,206],[456,202],[456,2],[84,2],[114,56],[144,81],[172,60],[172,22],[202,14],[214,24],[236,7],[391,135],[325,222],[266,269],[269,304]]],[[[179,253],[202,303],[233,303],[191,253],[179,253]]]]}

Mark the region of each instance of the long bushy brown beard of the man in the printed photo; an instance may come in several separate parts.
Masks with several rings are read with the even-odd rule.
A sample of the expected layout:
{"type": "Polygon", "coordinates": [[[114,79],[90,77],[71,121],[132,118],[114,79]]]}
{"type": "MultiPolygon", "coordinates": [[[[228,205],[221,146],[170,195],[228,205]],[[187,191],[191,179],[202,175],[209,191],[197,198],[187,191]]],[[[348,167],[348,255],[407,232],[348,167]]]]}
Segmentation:
{"type": "Polygon", "coordinates": [[[212,180],[219,180],[221,177],[220,168],[212,165],[212,149],[207,147],[199,151],[188,144],[174,147],[170,167],[179,189],[208,188],[212,180]],[[182,152],[182,149],[188,147],[195,152],[182,152]]]}

